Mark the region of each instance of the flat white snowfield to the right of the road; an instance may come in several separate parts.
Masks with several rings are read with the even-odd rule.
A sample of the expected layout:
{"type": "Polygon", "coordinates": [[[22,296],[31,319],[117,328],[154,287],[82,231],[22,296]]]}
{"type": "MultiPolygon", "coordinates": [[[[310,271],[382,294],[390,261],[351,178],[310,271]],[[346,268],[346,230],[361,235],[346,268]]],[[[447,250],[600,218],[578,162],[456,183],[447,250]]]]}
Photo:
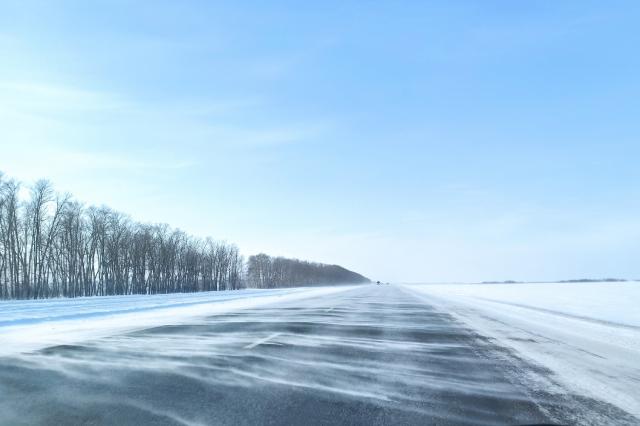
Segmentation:
{"type": "Polygon", "coordinates": [[[407,285],[570,389],[640,417],[640,283],[407,285]]]}

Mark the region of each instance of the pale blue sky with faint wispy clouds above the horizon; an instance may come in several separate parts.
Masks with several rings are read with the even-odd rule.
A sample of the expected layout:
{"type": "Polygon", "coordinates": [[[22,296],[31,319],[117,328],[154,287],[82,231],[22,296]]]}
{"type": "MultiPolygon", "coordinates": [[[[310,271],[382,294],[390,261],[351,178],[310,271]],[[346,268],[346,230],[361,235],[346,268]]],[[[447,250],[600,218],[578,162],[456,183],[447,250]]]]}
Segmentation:
{"type": "Polygon", "coordinates": [[[640,278],[636,1],[0,1],[0,170],[394,281],[640,278]]]}

